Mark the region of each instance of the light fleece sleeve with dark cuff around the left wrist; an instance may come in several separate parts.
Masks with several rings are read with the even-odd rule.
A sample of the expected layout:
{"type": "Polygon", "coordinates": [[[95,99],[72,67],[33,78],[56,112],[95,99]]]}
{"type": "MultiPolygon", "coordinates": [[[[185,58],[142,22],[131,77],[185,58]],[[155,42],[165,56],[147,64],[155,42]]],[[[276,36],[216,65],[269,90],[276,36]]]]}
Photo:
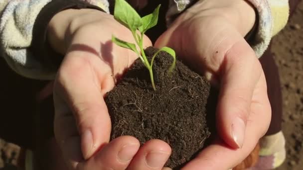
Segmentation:
{"type": "Polygon", "coordinates": [[[109,12],[109,3],[108,0],[1,0],[0,56],[12,70],[31,79],[54,79],[58,65],[38,56],[43,54],[39,49],[47,48],[46,29],[50,19],[67,8],[109,12]]]}

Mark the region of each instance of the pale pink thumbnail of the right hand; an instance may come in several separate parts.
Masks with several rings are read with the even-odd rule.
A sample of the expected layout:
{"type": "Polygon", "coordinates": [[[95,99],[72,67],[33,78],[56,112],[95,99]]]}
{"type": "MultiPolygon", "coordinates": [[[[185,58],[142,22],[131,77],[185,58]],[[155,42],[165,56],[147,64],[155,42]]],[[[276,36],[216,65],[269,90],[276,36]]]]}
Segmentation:
{"type": "Polygon", "coordinates": [[[245,123],[239,117],[234,119],[233,124],[231,125],[231,134],[233,140],[238,145],[238,148],[242,148],[245,136],[245,123]]]}

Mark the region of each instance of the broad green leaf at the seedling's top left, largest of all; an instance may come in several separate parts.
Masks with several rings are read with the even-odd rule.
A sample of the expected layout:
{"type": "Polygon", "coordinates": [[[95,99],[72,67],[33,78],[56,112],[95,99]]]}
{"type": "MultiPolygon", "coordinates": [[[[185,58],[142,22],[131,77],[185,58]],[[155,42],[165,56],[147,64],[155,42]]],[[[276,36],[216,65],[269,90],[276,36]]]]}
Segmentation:
{"type": "Polygon", "coordinates": [[[136,31],[142,25],[140,15],[125,0],[116,0],[114,18],[132,32],[136,31]]]}

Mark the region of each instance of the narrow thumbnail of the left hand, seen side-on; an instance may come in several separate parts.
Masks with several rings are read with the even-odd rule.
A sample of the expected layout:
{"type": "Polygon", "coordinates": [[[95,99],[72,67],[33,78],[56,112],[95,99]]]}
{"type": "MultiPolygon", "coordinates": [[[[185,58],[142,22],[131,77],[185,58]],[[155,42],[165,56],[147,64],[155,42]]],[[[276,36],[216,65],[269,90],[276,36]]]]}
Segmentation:
{"type": "Polygon", "coordinates": [[[84,159],[90,157],[90,152],[93,146],[93,135],[90,130],[85,130],[81,135],[81,149],[84,159]]]}

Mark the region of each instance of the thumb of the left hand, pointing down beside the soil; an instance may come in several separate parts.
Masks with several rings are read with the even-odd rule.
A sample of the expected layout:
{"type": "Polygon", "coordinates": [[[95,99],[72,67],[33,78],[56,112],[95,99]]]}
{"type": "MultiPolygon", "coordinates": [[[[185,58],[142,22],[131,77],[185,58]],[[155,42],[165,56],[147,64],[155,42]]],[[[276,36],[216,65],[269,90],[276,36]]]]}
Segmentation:
{"type": "MultiPolygon", "coordinates": [[[[99,147],[109,141],[111,121],[103,99],[101,85],[93,69],[94,58],[67,55],[63,62],[54,95],[56,119],[66,116],[68,108],[75,117],[84,159],[90,158],[99,147]]],[[[99,62],[96,60],[95,62],[99,62]]],[[[60,132],[59,132],[60,133],[60,132]]],[[[65,138],[75,134],[66,134],[65,138]]],[[[60,140],[60,139],[59,139],[60,140]]]]}

